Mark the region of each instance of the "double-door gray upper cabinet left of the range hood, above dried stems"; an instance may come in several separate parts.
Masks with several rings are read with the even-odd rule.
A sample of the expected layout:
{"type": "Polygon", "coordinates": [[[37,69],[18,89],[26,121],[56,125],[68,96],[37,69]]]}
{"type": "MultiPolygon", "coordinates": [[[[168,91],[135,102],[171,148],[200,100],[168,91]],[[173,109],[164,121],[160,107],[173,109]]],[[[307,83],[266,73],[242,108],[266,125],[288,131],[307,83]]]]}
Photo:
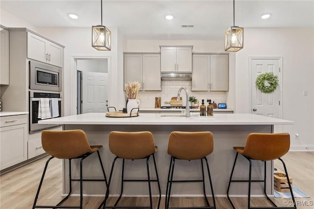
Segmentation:
{"type": "Polygon", "coordinates": [[[143,91],[161,91],[160,54],[124,53],[124,82],[138,81],[143,91]]]}

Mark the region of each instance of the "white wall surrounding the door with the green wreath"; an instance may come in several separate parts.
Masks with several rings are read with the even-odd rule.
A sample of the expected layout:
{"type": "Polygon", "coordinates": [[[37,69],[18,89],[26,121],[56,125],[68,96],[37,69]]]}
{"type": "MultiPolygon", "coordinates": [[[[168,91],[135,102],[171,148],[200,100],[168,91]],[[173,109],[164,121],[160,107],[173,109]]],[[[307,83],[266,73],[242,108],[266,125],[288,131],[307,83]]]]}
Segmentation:
{"type": "Polygon", "coordinates": [[[283,119],[294,121],[283,131],[290,133],[291,150],[314,150],[314,29],[245,28],[244,32],[244,48],[235,56],[235,111],[251,112],[249,56],[282,56],[283,119]]]}

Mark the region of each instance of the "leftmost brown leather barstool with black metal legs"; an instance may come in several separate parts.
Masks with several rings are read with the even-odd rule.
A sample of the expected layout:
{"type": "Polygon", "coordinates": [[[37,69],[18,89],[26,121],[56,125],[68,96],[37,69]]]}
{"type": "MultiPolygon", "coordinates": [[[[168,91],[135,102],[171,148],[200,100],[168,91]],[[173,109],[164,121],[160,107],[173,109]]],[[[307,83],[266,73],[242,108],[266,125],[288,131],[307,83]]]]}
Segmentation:
{"type": "Polygon", "coordinates": [[[107,180],[105,175],[104,166],[102,163],[102,159],[99,154],[99,149],[101,149],[102,145],[96,145],[96,146],[90,146],[87,137],[84,131],[82,130],[70,130],[70,131],[42,131],[41,133],[41,142],[43,149],[52,157],[50,157],[47,162],[46,166],[43,172],[43,175],[41,177],[38,190],[36,193],[36,197],[34,200],[33,209],[35,208],[72,208],[72,209],[82,209],[83,204],[83,181],[104,181],[106,186],[107,180]],[[104,174],[104,179],[83,179],[82,177],[82,163],[83,160],[93,154],[94,152],[97,152],[100,165],[102,167],[102,171],[104,174]],[[52,158],[59,158],[59,159],[69,159],[69,177],[70,177],[70,191],[69,194],[63,198],[56,206],[36,206],[36,202],[38,199],[38,195],[40,192],[40,188],[42,186],[42,183],[44,181],[45,173],[48,167],[48,163],[52,158]],[[80,158],[80,176],[79,179],[72,179],[71,176],[71,160],[80,158]],[[73,181],[79,181],[80,182],[80,202],[79,206],[61,206],[62,203],[64,203],[71,195],[72,192],[72,182],[73,181]]]}

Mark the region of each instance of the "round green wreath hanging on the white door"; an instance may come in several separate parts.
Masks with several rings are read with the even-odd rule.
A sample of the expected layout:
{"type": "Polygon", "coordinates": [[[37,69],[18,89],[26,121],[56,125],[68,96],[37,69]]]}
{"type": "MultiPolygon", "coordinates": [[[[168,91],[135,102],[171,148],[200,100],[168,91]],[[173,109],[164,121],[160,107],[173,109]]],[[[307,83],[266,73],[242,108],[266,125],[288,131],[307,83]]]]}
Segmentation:
{"type": "Polygon", "coordinates": [[[255,84],[257,88],[262,91],[262,93],[272,93],[276,90],[278,82],[278,76],[275,76],[273,73],[268,72],[259,75],[256,78],[255,84]],[[268,85],[265,85],[265,81],[267,81],[268,85]]]}

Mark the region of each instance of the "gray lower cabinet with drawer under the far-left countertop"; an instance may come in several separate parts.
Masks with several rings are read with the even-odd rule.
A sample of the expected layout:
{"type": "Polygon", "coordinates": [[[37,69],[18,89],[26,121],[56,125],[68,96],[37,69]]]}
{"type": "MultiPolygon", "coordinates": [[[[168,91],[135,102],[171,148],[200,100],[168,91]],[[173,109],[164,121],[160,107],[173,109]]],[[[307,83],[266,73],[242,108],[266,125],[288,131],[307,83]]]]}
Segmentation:
{"type": "Polygon", "coordinates": [[[0,170],[27,159],[27,115],[2,116],[0,170]]]}

